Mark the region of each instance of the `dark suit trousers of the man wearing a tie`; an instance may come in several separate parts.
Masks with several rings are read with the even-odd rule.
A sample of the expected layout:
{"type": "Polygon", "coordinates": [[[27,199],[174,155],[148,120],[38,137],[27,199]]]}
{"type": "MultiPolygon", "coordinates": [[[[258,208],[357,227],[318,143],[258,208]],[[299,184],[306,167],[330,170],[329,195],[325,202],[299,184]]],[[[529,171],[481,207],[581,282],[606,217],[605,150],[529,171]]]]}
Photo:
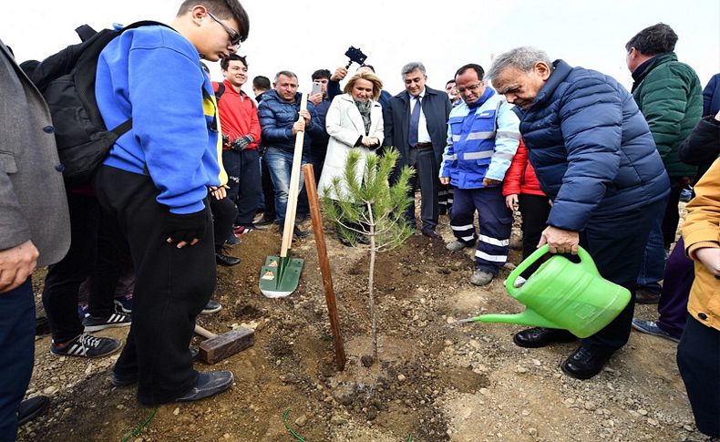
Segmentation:
{"type": "Polygon", "coordinates": [[[439,209],[437,207],[437,190],[440,181],[437,179],[439,165],[433,149],[409,148],[406,164],[415,170],[410,178],[410,196],[413,202],[407,208],[406,219],[411,227],[417,225],[415,219],[415,192],[420,187],[420,219],[423,221],[422,230],[431,231],[437,227],[439,209]]]}

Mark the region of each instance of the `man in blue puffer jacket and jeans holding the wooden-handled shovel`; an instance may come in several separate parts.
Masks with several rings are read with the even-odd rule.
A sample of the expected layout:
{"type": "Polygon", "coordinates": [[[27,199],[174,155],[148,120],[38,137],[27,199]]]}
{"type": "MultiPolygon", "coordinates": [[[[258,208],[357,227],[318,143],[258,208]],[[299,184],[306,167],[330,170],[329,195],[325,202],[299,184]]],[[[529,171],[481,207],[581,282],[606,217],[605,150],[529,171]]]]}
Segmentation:
{"type": "MultiPolygon", "coordinates": [[[[320,127],[312,102],[307,103],[307,110],[300,110],[301,94],[297,92],[297,76],[293,72],[278,72],[273,86],[273,90],[262,95],[258,118],[262,128],[262,143],[265,145],[264,159],[267,161],[275,189],[275,216],[282,230],[290,190],[290,174],[293,170],[295,135],[300,131],[306,133],[303,139],[305,164],[311,138],[322,136],[324,129],[320,127]]],[[[301,170],[298,192],[303,189],[302,173],[301,170]]],[[[297,227],[294,232],[299,237],[306,234],[297,227]]]]}

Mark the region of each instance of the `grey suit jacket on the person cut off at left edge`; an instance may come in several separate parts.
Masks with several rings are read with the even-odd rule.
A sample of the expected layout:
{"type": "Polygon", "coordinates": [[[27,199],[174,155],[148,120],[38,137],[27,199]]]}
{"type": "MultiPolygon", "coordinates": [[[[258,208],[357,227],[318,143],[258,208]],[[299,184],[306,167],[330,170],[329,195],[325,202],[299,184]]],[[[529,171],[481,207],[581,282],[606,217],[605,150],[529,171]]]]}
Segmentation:
{"type": "Polygon", "coordinates": [[[62,166],[45,100],[0,41],[0,250],[32,240],[38,265],[70,246],[62,166]]]}

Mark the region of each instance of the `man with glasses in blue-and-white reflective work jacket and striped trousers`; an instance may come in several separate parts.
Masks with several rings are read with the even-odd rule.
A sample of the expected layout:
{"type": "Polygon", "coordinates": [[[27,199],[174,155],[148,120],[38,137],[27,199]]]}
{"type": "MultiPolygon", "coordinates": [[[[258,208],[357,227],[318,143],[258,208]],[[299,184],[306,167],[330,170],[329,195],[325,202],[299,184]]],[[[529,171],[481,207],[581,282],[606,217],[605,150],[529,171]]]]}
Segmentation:
{"type": "Polygon", "coordinates": [[[475,64],[458,69],[462,101],[450,112],[440,182],[456,187],[450,227],[456,237],[447,249],[478,242],[470,283],[487,285],[508,261],[512,211],[502,196],[502,180],[519,144],[519,118],[512,106],[483,82],[475,64]],[[478,211],[479,236],[473,218],[478,211]]]}

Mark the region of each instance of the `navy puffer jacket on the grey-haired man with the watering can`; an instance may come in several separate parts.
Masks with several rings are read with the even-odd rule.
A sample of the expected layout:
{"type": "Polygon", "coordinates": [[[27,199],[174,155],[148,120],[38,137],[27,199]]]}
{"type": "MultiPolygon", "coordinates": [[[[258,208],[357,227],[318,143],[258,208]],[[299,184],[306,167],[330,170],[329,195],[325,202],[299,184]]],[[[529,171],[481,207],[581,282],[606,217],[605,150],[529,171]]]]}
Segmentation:
{"type": "Polygon", "coordinates": [[[548,224],[581,231],[591,216],[665,198],[670,181],[630,93],[599,72],[553,66],[530,108],[514,108],[540,186],[554,200],[548,224]]]}

